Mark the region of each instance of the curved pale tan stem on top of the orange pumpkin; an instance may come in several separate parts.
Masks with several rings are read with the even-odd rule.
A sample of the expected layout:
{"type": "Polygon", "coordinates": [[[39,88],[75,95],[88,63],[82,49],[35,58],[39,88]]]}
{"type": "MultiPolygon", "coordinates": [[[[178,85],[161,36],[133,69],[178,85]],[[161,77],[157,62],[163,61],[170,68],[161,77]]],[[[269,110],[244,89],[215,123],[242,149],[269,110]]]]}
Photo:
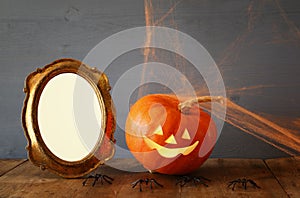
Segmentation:
{"type": "Polygon", "coordinates": [[[189,109],[192,106],[197,105],[203,102],[219,102],[221,104],[224,103],[225,98],[223,96],[200,96],[197,98],[192,98],[190,100],[186,100],[184,102],[179,103],[178,109],[180,112],[187,114],[189,109]]]}

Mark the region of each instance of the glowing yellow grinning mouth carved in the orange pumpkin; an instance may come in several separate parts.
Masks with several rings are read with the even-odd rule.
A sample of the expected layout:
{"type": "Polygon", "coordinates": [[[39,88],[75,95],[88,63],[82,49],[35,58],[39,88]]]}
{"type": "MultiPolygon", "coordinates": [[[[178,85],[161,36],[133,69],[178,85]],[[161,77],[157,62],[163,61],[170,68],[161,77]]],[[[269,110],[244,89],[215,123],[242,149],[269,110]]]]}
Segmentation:
{"type": "Polygon", "coordinates": [[[199,144],[199,141],[196,141],[194,144],[192,144],[190,146],[187,146],[187,147],[183,147],[183,148],[166,148],[166,147],[163,147],[163,146],[157,144],[156,142],[154,142],[153,140],[147,138],[146,136],[143,136],[143,139],[146,142],[146,144],[149,146],[149,148],[156,149],[157,152],[162,157],[165,157],[165,158],[174,158],[179,154],[188,155],[199,144]]]}

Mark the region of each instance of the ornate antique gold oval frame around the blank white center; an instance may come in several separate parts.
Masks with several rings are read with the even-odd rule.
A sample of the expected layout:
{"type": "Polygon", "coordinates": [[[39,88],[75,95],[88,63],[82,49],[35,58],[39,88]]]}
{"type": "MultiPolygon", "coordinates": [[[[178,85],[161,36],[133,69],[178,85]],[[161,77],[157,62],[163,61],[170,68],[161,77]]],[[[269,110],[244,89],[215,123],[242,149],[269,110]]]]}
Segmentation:
{"type": "Polygon", "coordinates": [[[22,124],[28,140],[26,149],[30,161],[43,170],[48,169],[65,178],[76,178],[90,173],[112,158],[115,152],[113,134],[116,124],[110,89],[108,78],[104,73],[74,59],[56,60],[29,74],[24,87],[26,97],[22,111],[22,124]],[[103,127],[104,133],[102,137],[99,138],[92,152],[74,162],[62,160],[50,151],[41,136],[37,119],[38,103],[43,89],[53,77],[63,73],[79,75],[93,87],[103,115],[101,127],[103,127]]]}

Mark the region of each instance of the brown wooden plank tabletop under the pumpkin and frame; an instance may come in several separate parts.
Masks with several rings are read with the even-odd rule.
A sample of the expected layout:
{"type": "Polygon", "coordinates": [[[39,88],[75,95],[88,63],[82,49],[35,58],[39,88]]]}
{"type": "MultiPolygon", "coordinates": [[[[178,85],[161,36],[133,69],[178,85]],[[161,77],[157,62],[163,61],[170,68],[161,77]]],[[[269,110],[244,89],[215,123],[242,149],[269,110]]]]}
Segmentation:
{"type": "MultiPolygon", "coordinates": [[[[130,164],[130,159],[115,159],[114,163],[130,164]]],[[[281,159],[209,159],[193,175],[209,178],[209,185],[184,187],[176,185],[176,176],[133,173],[103,165],[96,171],[114,178],[113,184],[98,182],[82,186],[84,179],[63,179],[42,171],[30,161],[0,160],[0,197],[300,197],[300,157],[281,159]],[[154,178],[163,188],[138,186],[131,183],[139,178],[154,178]],[[228,182],[237,178],[254,180],[261,189],[240,185],[233,191],[228,182]]]]}

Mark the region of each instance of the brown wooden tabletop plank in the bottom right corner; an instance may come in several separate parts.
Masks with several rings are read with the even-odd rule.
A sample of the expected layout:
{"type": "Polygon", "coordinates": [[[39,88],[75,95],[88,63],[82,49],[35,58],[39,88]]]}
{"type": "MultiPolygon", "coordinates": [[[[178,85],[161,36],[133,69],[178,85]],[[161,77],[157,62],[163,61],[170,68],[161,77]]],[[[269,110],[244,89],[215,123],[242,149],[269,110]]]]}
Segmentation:
{"type": "Polygon", "coordinates": [[[266,164],[290,197],[300,197],[300,157],[269,159],[266,164]]]}

